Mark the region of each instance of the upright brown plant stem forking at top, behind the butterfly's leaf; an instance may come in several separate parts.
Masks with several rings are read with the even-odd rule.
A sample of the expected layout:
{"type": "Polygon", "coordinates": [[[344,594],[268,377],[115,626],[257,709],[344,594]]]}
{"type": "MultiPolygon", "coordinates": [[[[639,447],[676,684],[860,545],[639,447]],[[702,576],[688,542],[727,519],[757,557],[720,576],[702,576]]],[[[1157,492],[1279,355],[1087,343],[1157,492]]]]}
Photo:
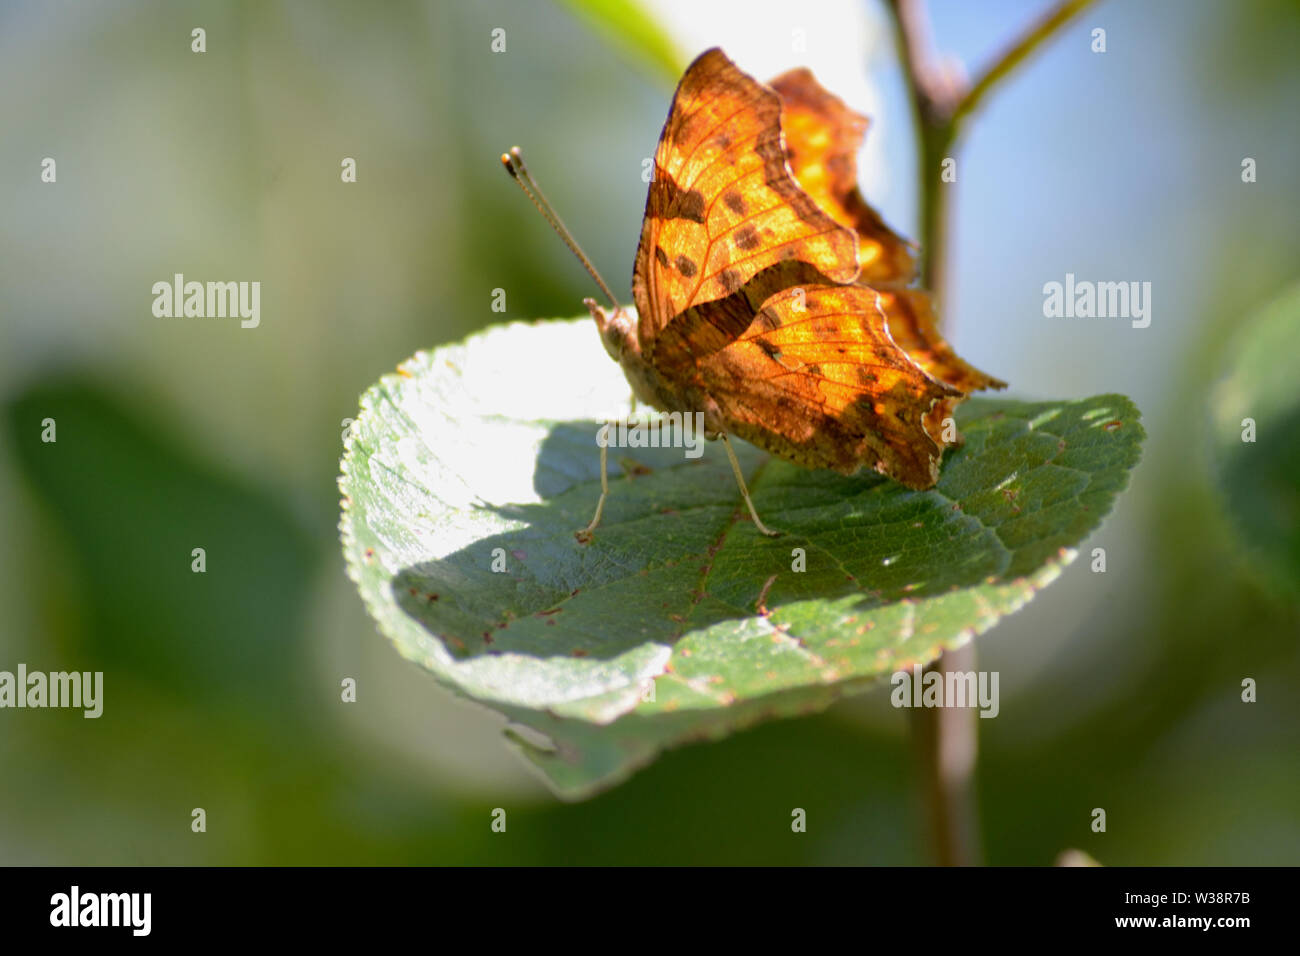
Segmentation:
{"type": "MultiPolygon", "coordinates": [[[[1062,0],[1011,43],[974,83],[937,61],[920,0],[888,0],[907,94],[916,122],[920,189],[920,282],[944,315],[948,261],[948,199],[942,182],[945,159],[953,152],[963,121],[1017,65],[1043,46],[1092,0],[1062,0]]],[[[974,671],[975,645],[945,652],[927,671],[974,671]]],[[[979,750],[974,708],[923,708],[913,702],[913,736],[920,761],[935,860],[941,866],[980,861],[975,805],[975,762],[979,750]]]]}

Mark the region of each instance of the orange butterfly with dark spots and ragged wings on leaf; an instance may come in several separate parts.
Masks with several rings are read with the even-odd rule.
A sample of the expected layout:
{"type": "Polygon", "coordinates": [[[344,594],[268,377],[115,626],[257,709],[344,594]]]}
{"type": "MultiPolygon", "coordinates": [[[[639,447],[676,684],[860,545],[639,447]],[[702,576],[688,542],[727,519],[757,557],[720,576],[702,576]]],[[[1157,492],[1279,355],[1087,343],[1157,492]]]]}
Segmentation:
{"type": "MultiPolygon", "coordinates": [[[[654,155],[634,312],[590,267],[517,147],[502,156],[612,303],[585,299],[633,395],[703,415],[767,535],[727,436],[806,468],[866,467],[926,489],[959,441],[953,408],[1005,388],[939,334],[907,242],[859,194],[866,127],[807,69],[763,85],[719,48],[697,57],[654,155]]],[[[601,499],[580,540],[608,494],[604,455],[602,445],[601,499]]]]}

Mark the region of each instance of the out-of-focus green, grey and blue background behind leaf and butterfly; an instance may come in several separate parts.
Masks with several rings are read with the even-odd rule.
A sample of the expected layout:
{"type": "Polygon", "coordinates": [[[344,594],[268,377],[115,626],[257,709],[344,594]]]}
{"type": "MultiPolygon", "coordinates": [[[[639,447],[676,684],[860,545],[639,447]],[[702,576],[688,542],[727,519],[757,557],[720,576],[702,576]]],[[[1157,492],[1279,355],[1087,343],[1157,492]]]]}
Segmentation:
{"type": "MultiPolygon", "coordinates": [[[[0,670],[105,671],[98,721],[0,710],[0,862],[927,860],[884,692],[566,805],[499,718],[398,657],[343,574],[358,395],[417,349],[575,316],[592,294],[502,150],[525,148],[625,291],[642,157],[676,73],[720,44],[759,78],[810,65],[868,113],[863,189],[916,233],[879,3],[644,0],[623,30],[606,7],[621,5],[0,0],[0,670]],[[151,286],[177,272],[260,281],[260,326],[155,317],[151,286]]],[[[1046,7],[928,4],[936,46],[971,72],[1046,7]]],[[[958,351],[1017,397],[1122,392],[1149,433],[1080,561],[978,641],[1002,691],[979,722],[988,862],[1300,861],[1300,562],[1243,546],[1208,437],[1235,341],[1300,274],[1297,48],[1294,0],[1109,0],[961,143],[958,351]],[[1152,282],[1150,326],[1045,319],[1043,285],[1067,272],[1152,282]]]]}

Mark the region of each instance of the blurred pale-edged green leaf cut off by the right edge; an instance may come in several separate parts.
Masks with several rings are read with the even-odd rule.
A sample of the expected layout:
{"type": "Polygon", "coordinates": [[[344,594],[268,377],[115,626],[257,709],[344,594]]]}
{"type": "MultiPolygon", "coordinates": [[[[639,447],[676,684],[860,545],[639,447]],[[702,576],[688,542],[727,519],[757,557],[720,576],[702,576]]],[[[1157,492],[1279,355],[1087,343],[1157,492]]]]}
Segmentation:
{"type": "Polygon", "coordinates": [[[1213,458],[1240,540],[1271,579],[1300,587],[1300,285],[1247,323],[1210,394],[1213,458]]]}

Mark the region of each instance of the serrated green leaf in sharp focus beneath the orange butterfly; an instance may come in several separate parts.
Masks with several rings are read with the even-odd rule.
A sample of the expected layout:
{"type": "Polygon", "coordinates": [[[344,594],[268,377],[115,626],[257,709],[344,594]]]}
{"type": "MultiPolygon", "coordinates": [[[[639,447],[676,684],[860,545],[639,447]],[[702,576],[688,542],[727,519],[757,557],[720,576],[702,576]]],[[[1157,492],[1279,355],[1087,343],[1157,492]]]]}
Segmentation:
{"type": "Polygon", "coordinates": [[[928,492],[736,442],[777,538],[749,520],[723,449],[611,449],[581,545],[595,433],[628,407],[590,320],[497,326],[367,392],[339,480],[348,572],[381,631],[510,717],[566,796],[987,631],[1069,563],[1143,437],[1121,395],[970,402],[928,492]]]}

